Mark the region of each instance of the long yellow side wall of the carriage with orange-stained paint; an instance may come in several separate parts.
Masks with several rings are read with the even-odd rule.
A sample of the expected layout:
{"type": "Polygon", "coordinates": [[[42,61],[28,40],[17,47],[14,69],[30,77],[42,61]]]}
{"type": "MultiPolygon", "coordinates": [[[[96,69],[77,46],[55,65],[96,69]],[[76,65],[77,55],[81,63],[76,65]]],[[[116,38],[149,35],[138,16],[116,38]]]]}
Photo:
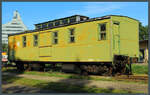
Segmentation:
{"type": "Polygon", "coordinates": [[[16,60],[51,62],[111,62],[110,19],[70,25],[14,36],[18,43],[16,60]],[[98,40],[98,24],[106,24],[106,40],[98,40]],[[75,28],[75,42],[69,42],[69,29],[75,28]],[[52,44],[52,33],[58,31],[58,44],[52,44]],[[33,46],[33,35],[39,34],[38,46],[33,46]],[[22,37],[27,37],[23,47],[22,37]]]}

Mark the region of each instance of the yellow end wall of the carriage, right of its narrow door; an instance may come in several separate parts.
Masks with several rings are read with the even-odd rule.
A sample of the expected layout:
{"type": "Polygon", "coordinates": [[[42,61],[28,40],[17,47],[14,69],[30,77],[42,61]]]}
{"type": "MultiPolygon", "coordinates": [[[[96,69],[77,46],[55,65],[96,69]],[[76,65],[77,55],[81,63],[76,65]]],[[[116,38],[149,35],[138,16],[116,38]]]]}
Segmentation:
{"type": "Polygon", "coordinates": [[[115,16],[112,16],[112,21],[119,22],[120,53],[118,54],[139,57],[139,22],[131,18],[115,16]]]}

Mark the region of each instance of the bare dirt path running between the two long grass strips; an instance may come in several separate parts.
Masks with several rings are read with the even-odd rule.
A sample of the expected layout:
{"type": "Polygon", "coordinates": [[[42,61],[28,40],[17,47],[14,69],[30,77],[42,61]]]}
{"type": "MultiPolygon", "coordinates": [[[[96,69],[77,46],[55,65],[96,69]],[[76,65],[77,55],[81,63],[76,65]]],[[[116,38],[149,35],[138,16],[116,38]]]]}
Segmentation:
{"type": "MultiPolygon", "coordinates": [[[[11,75],[10,73],[3,73],[3,75],[11,75]]],[[[83,79],[66,79],[60,77],[47,77],[47,76],[38,76],[38,75],[28,75],[20,74],[16,75],[17,77],[23,77],[34,80],[44,80],[48,82],[61,82],[66,84],[80,85],[83,84],[87,87],[97,87],[97,88],[107,88],[107,89],[121,89],[128,91],[140,91],[148,93],[148,84],[139,84],[139,83],[125,83],[125,82],[114,82],[114,81],[95,81],[95,80],[83,80],[83,79]]]]}

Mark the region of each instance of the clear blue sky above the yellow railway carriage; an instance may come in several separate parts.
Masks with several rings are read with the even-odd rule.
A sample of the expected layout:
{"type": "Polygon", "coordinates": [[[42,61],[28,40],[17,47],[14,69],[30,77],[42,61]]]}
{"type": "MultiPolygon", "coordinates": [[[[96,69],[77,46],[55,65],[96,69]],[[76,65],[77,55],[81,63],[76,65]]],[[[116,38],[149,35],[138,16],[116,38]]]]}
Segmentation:
{"type": "Polygon", "coordinates": [[[34,24],[79,14],[93,17],[124,15],[148,25],[148,2],[2,2],[2,24],[18,10],[29,30],[34,24]]]}

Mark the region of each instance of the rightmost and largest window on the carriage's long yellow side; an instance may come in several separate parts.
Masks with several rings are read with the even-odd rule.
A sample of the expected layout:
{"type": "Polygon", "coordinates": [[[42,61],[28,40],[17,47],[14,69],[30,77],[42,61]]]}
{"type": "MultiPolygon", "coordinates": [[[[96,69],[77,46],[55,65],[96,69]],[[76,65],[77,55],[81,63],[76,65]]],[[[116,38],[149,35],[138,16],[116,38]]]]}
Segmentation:
{"type": "Polygon", "coordinates": [[[106,24],[99,24],[99,40],[106,40],[106,24]]]}

